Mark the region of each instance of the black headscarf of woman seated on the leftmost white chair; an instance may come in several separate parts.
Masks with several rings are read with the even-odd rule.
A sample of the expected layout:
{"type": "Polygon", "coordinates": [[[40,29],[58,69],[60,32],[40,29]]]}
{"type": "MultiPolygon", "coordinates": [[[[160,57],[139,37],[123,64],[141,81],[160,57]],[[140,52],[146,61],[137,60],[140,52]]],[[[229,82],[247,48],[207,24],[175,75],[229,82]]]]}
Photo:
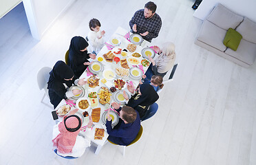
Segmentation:
{"type": "MultiPolygon", "coordinates": [[[[63,61],[58,61],[52,71],[50,72],[50,78],[49,78],[49,82],[48,82],[48,89],[52,88],[52,85],[54,83],[54,80],[57,80],[61,83],[65,83],[67,85],[67,87],[71,87],[73,81],[72,80],[64,80],[65,79],[70,79],[74,76],[74,72],[73,70],[66,65],[63,61]]],[[[73,78],[74,80],[74,78],[73,78]]]]}

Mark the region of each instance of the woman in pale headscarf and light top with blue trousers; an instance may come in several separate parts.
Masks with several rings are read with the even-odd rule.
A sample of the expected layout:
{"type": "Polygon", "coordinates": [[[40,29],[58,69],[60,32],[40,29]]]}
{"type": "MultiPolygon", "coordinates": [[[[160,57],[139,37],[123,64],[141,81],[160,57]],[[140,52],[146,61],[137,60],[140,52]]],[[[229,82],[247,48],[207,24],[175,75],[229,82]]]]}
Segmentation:
{"type": "Polygon", "coordinates": [[[162,50],[160,50],[158,46],[153,46],[153,50],[155,50],[159,56],[156,57],[155,61],[151,58],[151,56],[149,56],[151,65],[149,65],[149,68],[145,73],[147,79],[149,80],[153,75],[160,75],[164,77],[169,69],[173,67],[176,58],[175,45],[171,42],[164,43],[162,45],[162,50]]]}

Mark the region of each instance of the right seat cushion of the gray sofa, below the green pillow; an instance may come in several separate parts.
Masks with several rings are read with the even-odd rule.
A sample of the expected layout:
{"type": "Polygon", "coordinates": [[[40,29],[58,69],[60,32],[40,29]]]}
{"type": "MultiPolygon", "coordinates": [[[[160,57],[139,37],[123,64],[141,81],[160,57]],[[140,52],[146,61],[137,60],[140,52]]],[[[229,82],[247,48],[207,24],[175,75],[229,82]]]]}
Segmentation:
{"type": "Polygon", "coordinates": [[[248,65],[253,65],[256,58],[256,44],[242,39],[237,51],[233,51],[228,48],[225,53],[239,59],[239,61],[247,63],[248,65]]]}

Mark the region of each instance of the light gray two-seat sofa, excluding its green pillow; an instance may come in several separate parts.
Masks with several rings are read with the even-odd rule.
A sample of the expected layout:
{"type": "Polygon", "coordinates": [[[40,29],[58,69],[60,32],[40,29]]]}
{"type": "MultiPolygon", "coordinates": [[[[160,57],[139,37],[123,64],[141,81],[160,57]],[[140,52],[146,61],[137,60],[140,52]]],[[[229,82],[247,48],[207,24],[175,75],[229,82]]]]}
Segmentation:
{"type": "Polygon", "coordinates": [[[256,58],[256,23],[218,3],[204,19],[195,44],[238,65],[248,67],[253,65],[256,58]],[[223,44],[228,28],[235,29],[243,37],[237,51],[223,44]]]}

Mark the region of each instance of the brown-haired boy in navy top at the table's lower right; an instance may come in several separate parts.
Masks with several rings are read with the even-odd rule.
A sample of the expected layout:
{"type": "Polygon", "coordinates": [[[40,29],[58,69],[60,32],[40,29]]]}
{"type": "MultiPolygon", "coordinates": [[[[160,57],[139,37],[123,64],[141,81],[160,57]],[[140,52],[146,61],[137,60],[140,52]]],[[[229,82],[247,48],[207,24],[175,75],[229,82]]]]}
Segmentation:
{"type": "Polygon", "coordinates": [[[113,102],[111,105],[120,113],[120,119],[118,124],[112,129],[112,118],[109,115],[110,110],[107,112],[106,127],[109,134],[107,140],[121,146],[127,146],[134,141],[140,131],[140,115],[131,107],[120,107],[120,104],[117,102],[113,102]]]}

